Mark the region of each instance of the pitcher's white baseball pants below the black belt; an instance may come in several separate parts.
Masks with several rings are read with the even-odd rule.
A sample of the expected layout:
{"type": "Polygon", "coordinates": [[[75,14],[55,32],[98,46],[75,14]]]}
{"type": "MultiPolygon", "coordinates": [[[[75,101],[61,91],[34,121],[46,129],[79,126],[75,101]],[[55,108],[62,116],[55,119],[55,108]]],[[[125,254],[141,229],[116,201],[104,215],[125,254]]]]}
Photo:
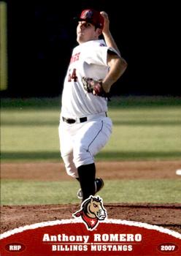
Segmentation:
{"type": "Polygon", "coordinates": [[[61,157],[69,176],[78,178],[77,167],[90,165],[93,157],[103,148],[112,133],[112,121],[106,116],[95,116],[83,123],[58,127],[61,157]]]}

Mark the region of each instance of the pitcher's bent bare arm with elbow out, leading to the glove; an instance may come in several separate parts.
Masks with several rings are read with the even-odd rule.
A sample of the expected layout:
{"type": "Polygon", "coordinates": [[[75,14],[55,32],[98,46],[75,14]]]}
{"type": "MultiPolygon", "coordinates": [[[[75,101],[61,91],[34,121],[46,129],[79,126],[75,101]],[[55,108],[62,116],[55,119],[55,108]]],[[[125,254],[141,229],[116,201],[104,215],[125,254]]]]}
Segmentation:
{"type": "Polygon", "coordinates": [[[107,64],[109,66],[109,72],[102,81],[102,87],[106,93],[111,89],[113,83],[115,83],[127,68],[127,62],[122,57],[115,53],[107,53],[107,64]]]}

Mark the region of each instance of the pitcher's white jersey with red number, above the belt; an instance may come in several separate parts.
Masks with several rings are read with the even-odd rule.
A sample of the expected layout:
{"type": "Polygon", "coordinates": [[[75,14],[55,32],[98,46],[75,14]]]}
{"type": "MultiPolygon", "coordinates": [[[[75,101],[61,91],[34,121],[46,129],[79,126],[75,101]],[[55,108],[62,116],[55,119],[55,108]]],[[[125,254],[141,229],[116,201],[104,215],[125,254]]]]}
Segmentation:
{"type": "Polygon", "coordinates": [[[84,42],[74,48],[63,85],[61,116],[74,118],[107,111],[107,99],[85,91],[82,77],[104,79],[109,71],[108,50],[117,53],[108,48],[103,39],[84,42]]]}

